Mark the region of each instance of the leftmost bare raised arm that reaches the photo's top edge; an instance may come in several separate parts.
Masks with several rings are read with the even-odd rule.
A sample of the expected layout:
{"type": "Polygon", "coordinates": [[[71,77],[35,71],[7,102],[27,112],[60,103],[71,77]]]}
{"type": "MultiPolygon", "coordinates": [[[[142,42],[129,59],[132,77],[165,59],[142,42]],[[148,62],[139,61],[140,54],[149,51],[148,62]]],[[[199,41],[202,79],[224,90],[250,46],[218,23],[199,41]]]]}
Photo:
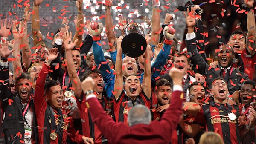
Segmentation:
{"type": "Polygon", "coordinates": [[[39,5],[43,2],[43,0],[34,0],[33,3],[33,14],[32,14],[32,24],[31,24],[31,32],[33,36],[34,46],[43,41],[43,35],[40,31],[40,19],[39,19],[39,5]]]}

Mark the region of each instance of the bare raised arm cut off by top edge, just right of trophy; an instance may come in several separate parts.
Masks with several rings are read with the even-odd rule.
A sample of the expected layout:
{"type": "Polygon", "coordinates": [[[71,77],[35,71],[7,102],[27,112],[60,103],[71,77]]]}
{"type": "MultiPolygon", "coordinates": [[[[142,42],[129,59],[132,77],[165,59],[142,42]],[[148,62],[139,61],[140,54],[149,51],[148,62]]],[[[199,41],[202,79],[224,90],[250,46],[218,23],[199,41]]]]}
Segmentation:
{"type": "Polygon", "coordinates": [[[159,11],[159,6],[160,5],[155,5],[154,3],[159,3],[160,4],[160,0],[152,0],[152,6],[153,6],[153,11],[152,11],[152,32],[151,32],[151,40],[149,41],[151,44],[153,45],[157,45],[159,42],[159,29],[161,28],[160,26],[160,11],[159,11]]]}

